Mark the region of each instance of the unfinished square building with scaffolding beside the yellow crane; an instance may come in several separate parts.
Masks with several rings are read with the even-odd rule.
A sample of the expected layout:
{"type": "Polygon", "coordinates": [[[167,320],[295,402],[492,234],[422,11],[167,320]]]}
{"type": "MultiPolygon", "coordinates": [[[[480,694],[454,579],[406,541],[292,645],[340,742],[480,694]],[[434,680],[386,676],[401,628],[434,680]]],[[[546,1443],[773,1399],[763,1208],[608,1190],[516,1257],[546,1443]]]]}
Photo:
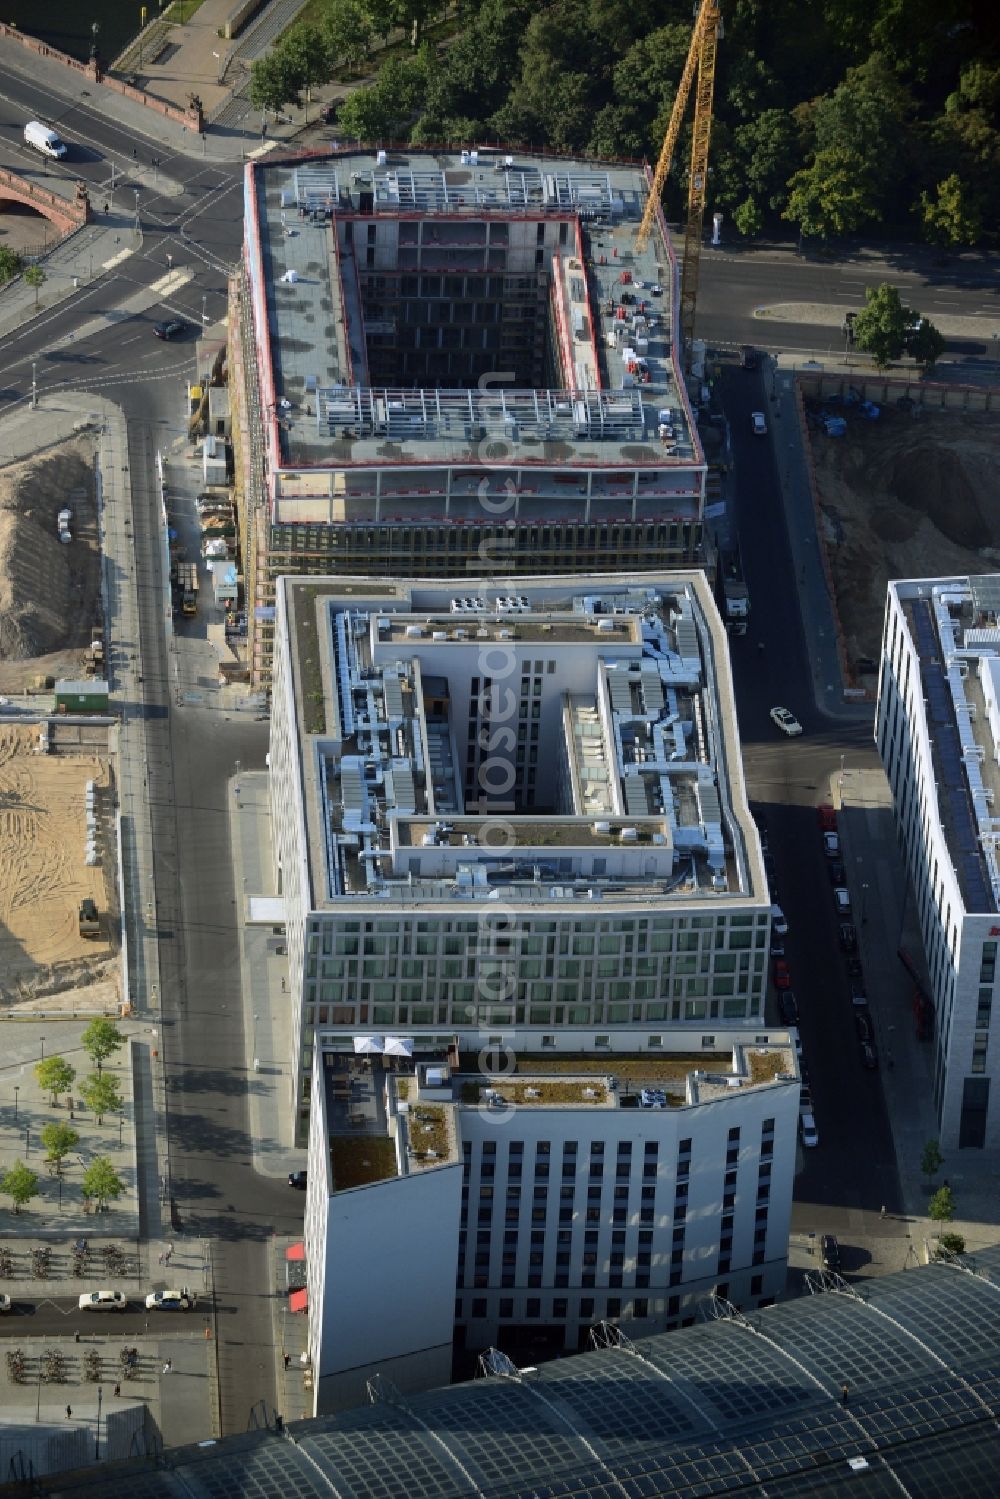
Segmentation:
{"type": "Polygon", "coordinates": [[[705,459],[645,168],[334,151],[246,168],[234,447],[252,682],[282,574],[697,564],[705,459]]]}

